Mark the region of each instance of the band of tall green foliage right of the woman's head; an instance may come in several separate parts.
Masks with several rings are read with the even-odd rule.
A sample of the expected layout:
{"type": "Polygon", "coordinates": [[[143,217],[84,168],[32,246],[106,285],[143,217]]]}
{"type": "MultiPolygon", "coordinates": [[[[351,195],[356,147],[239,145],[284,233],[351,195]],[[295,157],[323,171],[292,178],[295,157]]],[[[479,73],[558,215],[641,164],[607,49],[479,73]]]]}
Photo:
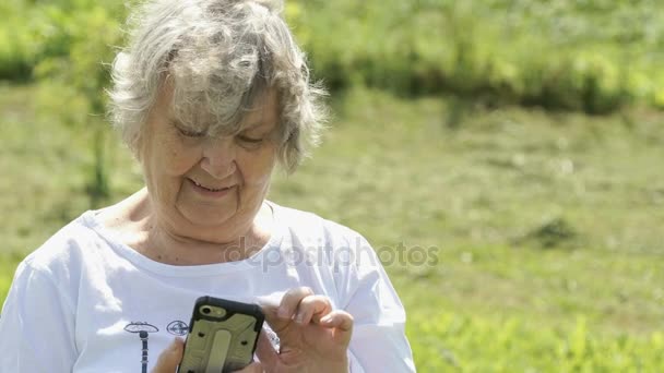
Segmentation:
{"type": "Polygon", "coordinates": [[[603,113],[633,100],[660,105],[657,7],[308,1],[292,19],[317,75],[332,87],[361,83],[403,95],[449,92],[603,113]]]}

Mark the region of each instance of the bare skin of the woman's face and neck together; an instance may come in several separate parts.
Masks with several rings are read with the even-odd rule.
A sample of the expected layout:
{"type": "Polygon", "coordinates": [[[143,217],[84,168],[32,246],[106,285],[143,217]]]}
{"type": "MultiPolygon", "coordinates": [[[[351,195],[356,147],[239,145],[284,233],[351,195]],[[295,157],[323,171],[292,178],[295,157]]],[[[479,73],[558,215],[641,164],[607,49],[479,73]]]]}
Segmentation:
{"type": "Polygon", "coordinates": [[[139,145],[146,188],[98,218],[127,245],[162,263],[247,257],[268,242],[273,224],[263,202],[276,160],[277,96],[268,92],[239,134],[199,136],[174,120],[171,94],[166,87],[159,95],[139,145]]]}

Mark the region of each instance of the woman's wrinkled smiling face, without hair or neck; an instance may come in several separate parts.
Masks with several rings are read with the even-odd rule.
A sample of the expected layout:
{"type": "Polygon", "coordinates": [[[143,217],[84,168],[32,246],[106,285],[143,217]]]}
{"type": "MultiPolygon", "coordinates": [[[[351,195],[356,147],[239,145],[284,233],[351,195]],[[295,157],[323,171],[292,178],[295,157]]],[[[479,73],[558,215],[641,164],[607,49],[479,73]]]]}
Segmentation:
{"type": "Polygon", "coordinates": [[[229,242],[247,232],[275,163],[277,97],[270,92],[236,135],[213,136],[175,120],[173,89],[151,111],[140,159],[157,224],[177,236],[229,242]]]}

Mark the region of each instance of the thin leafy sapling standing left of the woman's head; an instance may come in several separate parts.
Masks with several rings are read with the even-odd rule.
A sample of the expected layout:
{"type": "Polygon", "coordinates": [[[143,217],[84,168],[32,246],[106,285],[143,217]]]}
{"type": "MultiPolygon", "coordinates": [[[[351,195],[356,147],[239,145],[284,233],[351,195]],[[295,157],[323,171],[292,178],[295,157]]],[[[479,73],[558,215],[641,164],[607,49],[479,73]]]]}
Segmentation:
{"type": "MultiPolygon", "coordinates": [[[[42,33],[42,58],[35,67],[35,75],[40,80],[55,80],[73,87],[75,94],[86,103],[88,117],[76,127],[92,127],[90,142],[95,155],[90,168],[86,191],[91,206],[99,206],[110,195],[108,170],[105,160],[107,124],[104,113],[109,84],[109,62],[112,61],[112,46],[121,44],[120,25],[110,16],[109,10],[92,2],[79,1],[76,11],[57,4],[40,9],[51,32],[42,33]],[[85,5],[85,7],[84,7],[85,5]],[[91,125],[92,124],[92,125],[91,125]]],[[[57,100],[57,98],[50,98],[57,100]]],[[[61,103],[67,105],[67,103],[61,103]]]]}

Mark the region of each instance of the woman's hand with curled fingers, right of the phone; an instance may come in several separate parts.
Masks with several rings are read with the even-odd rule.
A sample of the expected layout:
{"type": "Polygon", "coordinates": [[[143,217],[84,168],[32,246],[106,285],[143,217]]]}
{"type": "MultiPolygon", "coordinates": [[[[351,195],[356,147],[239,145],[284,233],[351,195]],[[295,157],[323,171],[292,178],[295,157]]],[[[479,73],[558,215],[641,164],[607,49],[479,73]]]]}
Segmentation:
{"type": "Polygon", "coordinates": [[[261,333],[256,353],[269,373],[348,372],[353,316],[332,310],[327,297],[309,288],[288,290],[278,306],[262,305],[280,338],[280,351],[261,333]]]}

